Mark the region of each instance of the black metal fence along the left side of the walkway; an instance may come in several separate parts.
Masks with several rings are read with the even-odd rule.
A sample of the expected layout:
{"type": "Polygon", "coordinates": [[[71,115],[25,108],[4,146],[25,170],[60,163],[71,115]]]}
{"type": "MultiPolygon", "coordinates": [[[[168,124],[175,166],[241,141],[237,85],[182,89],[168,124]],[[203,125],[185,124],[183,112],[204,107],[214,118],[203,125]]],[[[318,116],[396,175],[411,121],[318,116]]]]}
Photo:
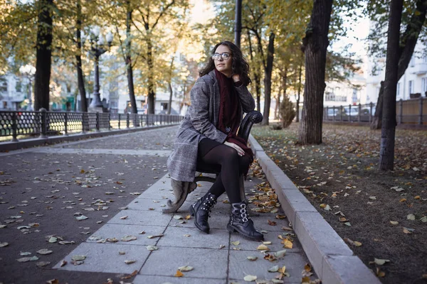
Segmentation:
{"type": "Polygon", "coordinates": [[[68,135],[89,131],[177,124],[184,116],[59,111],[0,111],[0,137],[68,135]]]}

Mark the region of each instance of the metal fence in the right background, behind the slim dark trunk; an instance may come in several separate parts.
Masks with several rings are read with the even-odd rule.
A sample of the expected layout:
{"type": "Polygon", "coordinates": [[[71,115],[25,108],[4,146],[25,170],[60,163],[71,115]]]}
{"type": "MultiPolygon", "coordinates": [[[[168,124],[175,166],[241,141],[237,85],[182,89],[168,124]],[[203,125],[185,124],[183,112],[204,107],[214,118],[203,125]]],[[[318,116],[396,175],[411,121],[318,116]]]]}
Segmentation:
{"type": "MultiPolygon", "coordinates": [[[[374,119],[376,104],[358,104],[323,109],[323,121],[365,122],[374,119]]],[[[427,98],[399,100],[396,102],[398,124],[427,125],[427,98]]]]}

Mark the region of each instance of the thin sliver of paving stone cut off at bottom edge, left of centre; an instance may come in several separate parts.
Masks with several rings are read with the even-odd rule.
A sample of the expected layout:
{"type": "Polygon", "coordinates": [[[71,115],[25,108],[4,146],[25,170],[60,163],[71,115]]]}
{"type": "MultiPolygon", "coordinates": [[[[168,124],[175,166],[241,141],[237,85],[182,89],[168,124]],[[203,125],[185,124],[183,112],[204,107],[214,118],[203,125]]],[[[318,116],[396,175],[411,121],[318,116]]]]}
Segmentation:
{"type": "Polygon", "coordinates": [[[226,284],[226,282],[225,279],[189,278],[185,272],[184,277],[137,275],[132,281],[133,284],[226,284]]]}

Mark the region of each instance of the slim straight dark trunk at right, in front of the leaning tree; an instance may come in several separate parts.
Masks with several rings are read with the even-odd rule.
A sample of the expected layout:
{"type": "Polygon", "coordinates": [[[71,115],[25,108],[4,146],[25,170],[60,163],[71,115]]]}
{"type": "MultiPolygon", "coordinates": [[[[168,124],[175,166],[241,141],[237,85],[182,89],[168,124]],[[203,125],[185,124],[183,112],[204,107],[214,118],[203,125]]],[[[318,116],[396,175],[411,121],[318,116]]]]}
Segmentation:
{"type": "Polygon", "coordinates": [[[404,0],[391,0],[389,31],[387,35],[386,80],[384,82],[383,124],[381,127],[381,148],[379,169],[393,170],[394,137],[396,132],[396,89],[398,81],[399,31],[404,0]]]}

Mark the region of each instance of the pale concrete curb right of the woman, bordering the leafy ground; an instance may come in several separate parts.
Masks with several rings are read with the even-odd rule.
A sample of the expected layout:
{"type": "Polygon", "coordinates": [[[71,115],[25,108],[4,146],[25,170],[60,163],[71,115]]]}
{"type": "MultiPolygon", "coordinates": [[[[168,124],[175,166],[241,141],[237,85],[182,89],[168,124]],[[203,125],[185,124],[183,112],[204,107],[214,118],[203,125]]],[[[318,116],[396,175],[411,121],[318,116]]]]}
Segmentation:
{"type": "Polygon", "coordinates": [[[283,170],[268,157],[252,135],[249,136],[249,143],[322,283],[381,283],[283,170]]]}

